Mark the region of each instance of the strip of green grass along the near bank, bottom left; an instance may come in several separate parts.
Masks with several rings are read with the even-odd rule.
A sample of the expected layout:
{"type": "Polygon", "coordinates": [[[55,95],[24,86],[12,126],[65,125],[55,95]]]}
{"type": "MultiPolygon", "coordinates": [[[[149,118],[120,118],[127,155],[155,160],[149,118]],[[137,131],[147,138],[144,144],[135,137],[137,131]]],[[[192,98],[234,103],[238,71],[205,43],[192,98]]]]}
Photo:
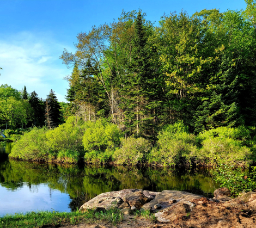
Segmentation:
{"type": "Polygon", "coordinates": [[[97,223],[99,221],[109,221],[116,225],[122,220],[123,216],[118,209],[109,209],[105,212],[88,210],[85,213],[78,212],[78,210],[76,212],[38,211],[4,215],[4,217],[0,217],[0,228],[39,228],[64,224],[97,223]]]}

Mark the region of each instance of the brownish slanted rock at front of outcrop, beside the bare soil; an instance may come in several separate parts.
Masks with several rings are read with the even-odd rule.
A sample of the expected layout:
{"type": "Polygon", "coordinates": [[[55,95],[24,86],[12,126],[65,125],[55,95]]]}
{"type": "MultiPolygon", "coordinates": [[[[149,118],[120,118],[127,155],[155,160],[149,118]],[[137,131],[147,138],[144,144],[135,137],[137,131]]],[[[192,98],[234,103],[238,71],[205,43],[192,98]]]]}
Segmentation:
{"type": "Polygon", "coordinates": [[[190,201],[178,202],[178,204],[163,209],[155,213],[155,217],[161,223],[169,223],[174,220],[181,219],[184,216],[190,215],[192,208],[195,206],[190,201]]]}

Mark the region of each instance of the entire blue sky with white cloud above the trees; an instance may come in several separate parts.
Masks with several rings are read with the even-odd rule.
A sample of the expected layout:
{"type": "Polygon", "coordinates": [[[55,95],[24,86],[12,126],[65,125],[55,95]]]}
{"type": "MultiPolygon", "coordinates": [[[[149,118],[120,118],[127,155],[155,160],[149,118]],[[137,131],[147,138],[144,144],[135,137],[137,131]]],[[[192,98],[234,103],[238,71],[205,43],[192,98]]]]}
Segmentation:
{"type": "Polygon", "coordinates": [[[74,52],[76,35],[92,26],[113,22],[122,10],[141,8],[147,20],[181,9],[192,15],[202,9],[245,9],[243,0],[0,0],[0,84],[27,87],[46,98],[50,90],[65,101],[69,75],[59,56],[64,48],[74,52]]]}

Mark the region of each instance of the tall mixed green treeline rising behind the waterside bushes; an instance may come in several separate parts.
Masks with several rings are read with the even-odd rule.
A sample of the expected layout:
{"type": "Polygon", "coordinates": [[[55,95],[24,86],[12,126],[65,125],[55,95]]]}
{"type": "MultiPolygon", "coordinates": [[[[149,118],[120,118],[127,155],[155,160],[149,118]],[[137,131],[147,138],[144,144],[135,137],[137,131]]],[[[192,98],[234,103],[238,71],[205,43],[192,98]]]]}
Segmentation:
{"type": "Polygon", "coordinates": [[[66,117],[109,118],[125,132],[155,139],[182,120],[199,134],[256,123],[255,5],[245,11],[202,10],[163,15],[159,26],[142,11],[77,35],[66,79],[66,117]]]}

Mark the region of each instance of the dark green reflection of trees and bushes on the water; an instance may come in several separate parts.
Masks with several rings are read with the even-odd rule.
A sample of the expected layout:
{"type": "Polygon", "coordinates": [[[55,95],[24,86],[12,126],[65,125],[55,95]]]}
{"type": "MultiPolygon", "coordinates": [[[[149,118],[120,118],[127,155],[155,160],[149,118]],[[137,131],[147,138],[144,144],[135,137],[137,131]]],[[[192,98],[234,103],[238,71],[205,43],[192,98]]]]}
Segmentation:
{"type": "MultiPolygon", "coordinates": [[[[49,189],[69,194],[71,201],[67,204],[72,211],[103,192],[126,188],[155,192],[166,189],[186,190],[208,197],[218,188],[206,169],[102,167],[9,161],[10,149],[10,145],[6,145],[5,149],[0,146],[0,185],[15,192],[23,184],[31,189],[36,184],[44,183],[49,189]]],[[[31,191],[27,194],[31,194],[31,191]]]]}

